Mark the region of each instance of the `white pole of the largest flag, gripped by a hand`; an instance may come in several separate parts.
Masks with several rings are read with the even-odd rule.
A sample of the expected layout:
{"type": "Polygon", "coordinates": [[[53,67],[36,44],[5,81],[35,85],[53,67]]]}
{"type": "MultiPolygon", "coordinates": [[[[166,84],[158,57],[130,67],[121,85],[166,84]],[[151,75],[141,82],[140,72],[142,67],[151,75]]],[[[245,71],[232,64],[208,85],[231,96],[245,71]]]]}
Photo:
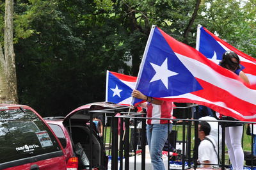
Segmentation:
{"type": "MultiPolygon", "coordinates": [[[[151,30],[150,30],[150,34],[148,36],[148,41],[147,41],[147,45],[145,47],[145,50],[144,50],[144,53],[143,53],[143,57],[141,59],[141,63],[140,63],[140,70],[138,72],[138,76],[137,76],[137,81],[136,81],[136,85],[135,85],[135,89],[138,88],[138,82],[140,81],[140,77],[141,77],[141,74],[142,74],[142,70],[143,70],[143,66],[145,64],[145,60],[147,58],[147,54],[148,54],[148,49],[149,49],[149,46],[150,46],[150,43],[151,43],[151,40],[152,40],[152,36],[154,35],[154,30],[155,30],[156,26],[155,25],[152,25],[151,27],[151,30]]],[[[130,108],[131,108],[131,105],[133,104],[134,102],[134,97],[132,97],[132,100],[131,100],[131,104],[130,104],[130,108]]],[[[133,106],[133,105],[132,105],[133,106]]]]}

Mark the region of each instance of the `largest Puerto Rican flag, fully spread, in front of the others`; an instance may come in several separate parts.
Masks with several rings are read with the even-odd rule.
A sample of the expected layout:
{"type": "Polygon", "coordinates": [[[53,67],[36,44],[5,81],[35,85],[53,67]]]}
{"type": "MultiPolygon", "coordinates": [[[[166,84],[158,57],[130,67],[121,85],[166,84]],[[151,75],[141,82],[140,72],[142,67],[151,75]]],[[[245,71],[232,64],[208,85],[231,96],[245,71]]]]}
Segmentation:
{"type": "Polygon", "coordinates": [[[136,89],[160,100],[202,104],[225,116],[256,121],[254,89],[156,26],[148,37],[136,89]]]}

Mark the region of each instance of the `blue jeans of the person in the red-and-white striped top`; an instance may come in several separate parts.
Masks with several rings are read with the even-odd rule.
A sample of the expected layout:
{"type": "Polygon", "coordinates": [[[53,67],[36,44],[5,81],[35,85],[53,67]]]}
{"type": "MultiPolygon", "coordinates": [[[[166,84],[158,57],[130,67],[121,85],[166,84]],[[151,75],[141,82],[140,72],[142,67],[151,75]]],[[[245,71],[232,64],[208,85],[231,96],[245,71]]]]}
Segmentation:
{"type": "MultiPolygon", "coordinates": [[[[172,123],[170,123],[172,131],[172,123]]],[[[168,138],[168,124],[147,125],[147,140],[151,163],[154,170],[164,170],[162,150],[168,138]]]]}

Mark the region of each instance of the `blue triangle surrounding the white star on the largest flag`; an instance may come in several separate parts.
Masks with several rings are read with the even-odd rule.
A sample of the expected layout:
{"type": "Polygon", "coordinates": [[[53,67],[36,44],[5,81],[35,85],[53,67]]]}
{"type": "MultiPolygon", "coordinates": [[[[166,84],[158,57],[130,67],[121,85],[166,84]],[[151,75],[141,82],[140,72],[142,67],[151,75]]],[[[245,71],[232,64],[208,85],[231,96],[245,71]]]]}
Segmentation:
{"type": "Polygon", "coordinates": [[[147,57],[145,58],[137,89],[147,96],[159,98],[183,95],[202,89],[195,77],[177,58],[157,27],[154,29],[154,34],[148,47],[147,57]],[[161,80],[152,81],[156,74],[152,64],[161,66],[166,58],[168,70],[177,74],[168,77],[168,84],[165,83],[164,85],[161,80]],[[148,86],[145,86],[145,84],[148,84],[148,86]],[[168,85],[167,88],[166,85],[168,85]]]}

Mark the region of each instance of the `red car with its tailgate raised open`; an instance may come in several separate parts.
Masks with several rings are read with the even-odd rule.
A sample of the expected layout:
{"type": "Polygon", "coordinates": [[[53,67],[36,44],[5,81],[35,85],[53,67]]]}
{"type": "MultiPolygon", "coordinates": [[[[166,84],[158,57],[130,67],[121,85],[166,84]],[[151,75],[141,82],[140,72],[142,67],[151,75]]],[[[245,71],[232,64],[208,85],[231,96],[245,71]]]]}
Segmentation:
{"type": "MultiPolygon", "coordinates": [[[[97,102],[82,105],[64,117],[48,117],[44,120],[52,128],[59,138],[66,159],[76,155],[79,157],[79,169],[89,167],[92,154],[92,169],[108,169],[108,156],[99,134],[93,123],[90,130],[90,116],[98,116],[99,113],[88,112],[92,110],[111,109],[122,107],[120,105],[97,102]],[[90,146],[92,135],[92,148],[90,146]]],[[[102,114],[102,113],[100,113],[102,114]]]]}

